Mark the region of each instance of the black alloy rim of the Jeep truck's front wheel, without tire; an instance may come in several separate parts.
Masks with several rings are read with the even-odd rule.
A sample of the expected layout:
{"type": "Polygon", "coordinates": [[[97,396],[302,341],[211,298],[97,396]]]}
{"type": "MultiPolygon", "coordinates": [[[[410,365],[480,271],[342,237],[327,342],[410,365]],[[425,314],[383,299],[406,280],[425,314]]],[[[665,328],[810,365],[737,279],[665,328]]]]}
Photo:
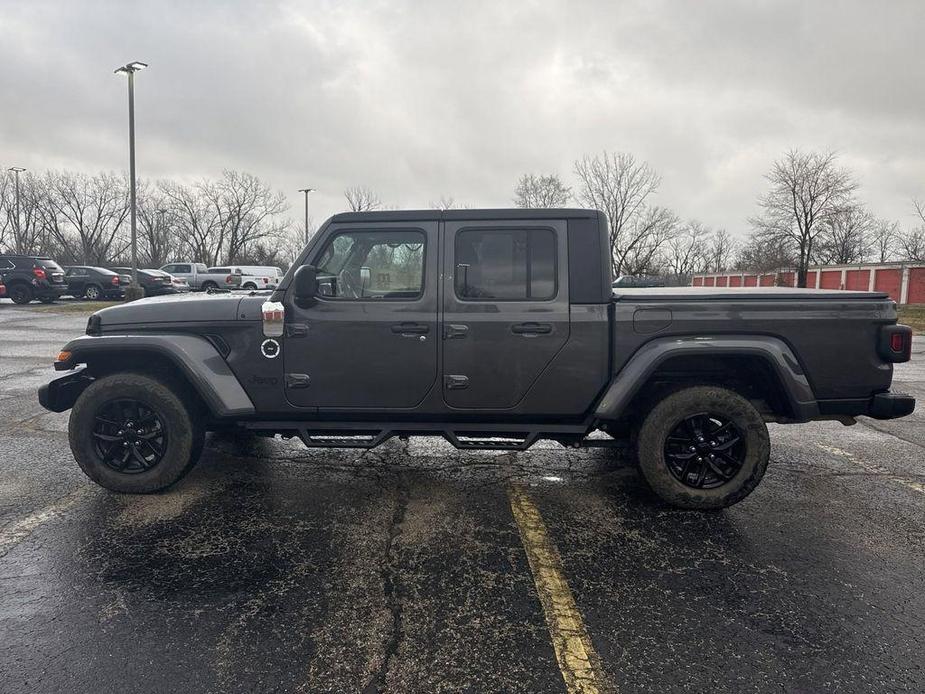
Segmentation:
{"type": "Polygon", "coordinates": [[[160,415],[134,399],[103,404],[94,416],[93,439],[103,464],[124,474],[147,472],[167,450],[167,429],[160,415]]]}

